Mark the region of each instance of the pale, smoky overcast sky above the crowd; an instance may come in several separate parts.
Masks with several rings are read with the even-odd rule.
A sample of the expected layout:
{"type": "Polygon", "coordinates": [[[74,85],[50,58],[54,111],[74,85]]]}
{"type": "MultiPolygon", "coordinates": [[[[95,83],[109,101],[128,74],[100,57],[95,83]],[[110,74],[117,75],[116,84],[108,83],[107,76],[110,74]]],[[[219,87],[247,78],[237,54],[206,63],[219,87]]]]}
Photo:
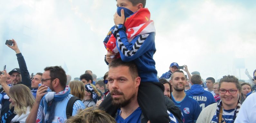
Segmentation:
{"type": "MultiPolygon", "coordinates": [[[[232,74],[247,80],[256,69],[256,2],[254,0],[147,0],[156,27],[156,70],[172,62],[188,65],[202,78],[232,74]],[[239,61],[238,64],[235,64],[239,61]]],[[[108,71],[103,40],[114,25],[115,0],[1,0],[0,65],[18,67],[15,52],[5,46],[15,39],[30,73],[61,65],[79,77],[108,71]]],[[[0,68],[2,69],[2,68],[0,68]]]]}

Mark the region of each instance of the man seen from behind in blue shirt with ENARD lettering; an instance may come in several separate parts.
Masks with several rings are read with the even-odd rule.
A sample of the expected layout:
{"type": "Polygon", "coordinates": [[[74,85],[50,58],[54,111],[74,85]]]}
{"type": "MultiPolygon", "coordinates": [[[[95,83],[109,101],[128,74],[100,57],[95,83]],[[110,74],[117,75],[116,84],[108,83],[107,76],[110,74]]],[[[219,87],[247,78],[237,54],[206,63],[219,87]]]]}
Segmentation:
{"type": "Polygon", "coordinates": [[[186,94],[193,97],[200,105],[201,111],[208,105],[215,103],[215,99],[211,92],[204,90],[201,86],[201,76],[194,74],[191,77],[192,86],[186,94]]]}

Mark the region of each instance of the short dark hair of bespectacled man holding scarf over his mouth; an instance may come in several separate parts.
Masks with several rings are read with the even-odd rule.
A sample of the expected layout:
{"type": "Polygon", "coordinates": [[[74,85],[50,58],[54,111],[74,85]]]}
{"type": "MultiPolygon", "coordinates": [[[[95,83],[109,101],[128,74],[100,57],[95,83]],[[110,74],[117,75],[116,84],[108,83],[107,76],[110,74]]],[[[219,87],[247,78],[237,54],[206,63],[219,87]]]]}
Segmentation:
{"type": "Polygon", "coordinates": [[[45,67],[44,71],[50,71],[50,77],[59,79],[61,86],[65,88],[67,83],[67,75],[61,66],[45,67]]]}

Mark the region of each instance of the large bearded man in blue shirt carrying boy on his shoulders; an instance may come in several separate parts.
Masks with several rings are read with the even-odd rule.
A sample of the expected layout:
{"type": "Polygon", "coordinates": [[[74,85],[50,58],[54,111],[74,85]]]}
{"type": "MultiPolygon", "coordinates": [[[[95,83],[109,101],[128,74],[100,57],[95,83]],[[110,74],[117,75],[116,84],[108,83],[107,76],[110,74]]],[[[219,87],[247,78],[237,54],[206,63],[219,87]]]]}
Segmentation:
{"type": "MultiPolygon", "coordinates": [[[[114,59],[109,64],[108,83],[112,104],[120,107],[115,117],[117,123],[147,123],[137,101],[140,77],[136,64],[114,59]]],[[[170,123],[178,123],[170,111],[167,113],[170,123]]]]}

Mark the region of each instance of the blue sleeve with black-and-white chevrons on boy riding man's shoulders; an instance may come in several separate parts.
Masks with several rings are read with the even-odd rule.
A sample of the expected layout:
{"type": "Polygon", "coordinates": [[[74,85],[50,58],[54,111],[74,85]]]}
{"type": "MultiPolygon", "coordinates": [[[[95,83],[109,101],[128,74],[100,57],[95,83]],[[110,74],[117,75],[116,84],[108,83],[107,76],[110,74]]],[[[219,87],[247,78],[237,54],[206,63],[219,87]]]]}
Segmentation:
{"type": "Polygon", "coordinates": [[[121,59],[125,62],[132,61],[152,50],[155,42],[155,33],[137,35],[131,42],[128,42],[125,30],[118,29],[118,26],[115,27],[113,35],[117,39],[116,43],[121,59]]]}

